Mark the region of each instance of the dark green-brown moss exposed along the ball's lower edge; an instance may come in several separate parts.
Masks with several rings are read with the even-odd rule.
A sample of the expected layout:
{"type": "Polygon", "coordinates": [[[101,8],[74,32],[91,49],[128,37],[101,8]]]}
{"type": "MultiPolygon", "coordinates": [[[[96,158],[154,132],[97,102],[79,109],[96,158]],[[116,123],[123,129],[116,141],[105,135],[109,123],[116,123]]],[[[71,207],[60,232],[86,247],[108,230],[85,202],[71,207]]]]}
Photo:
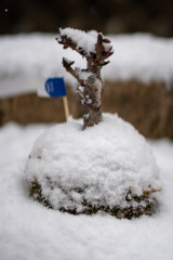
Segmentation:
{"type": "MultiPolygon", "coordinates": [[[[83,190],[76,188],[76,192],[83,193],[83,190]]],[[[83,199],[82,202],[82,206],[84,207],[83,211],[78,212],[76,208],[68,209],[65,207],[59,208],[59,211],[68,212],[71,214],[90,214],[90,216],[95,214],[98,211],[99,212],[102,211],[110,216],[114,216],[118,219],[138,218],[142,214],[151,216],[155,212],[157,200],[155,197],[151,197],[150,194],[155,192],[160,192],[160,191],[156,191],[149,186],[148,191],[145,191],[143,195],[137,196],[132,194],[131,187],[130,187],[127,193],[125,200],[135,202],[137,205],[135,207],[130,206],[130,207],[121,208],[119,205],[115,207],[109,207],[109,205],[102,205],[97,207],[94,204],[89,203],[86,199],[83,199]],[[141,205],[142,202],[144,202],[145,206],[141,205]]],[[[37,179],[35,179],[35,181],[30,183],[29,196],[32,197],[35,200],[41,203],[43,206],[53,209],[53,206],[49,202],[49,197],[45,198],[42,195],[42,188],[41,188],[41,185],[38,183],[37,179]]]]}

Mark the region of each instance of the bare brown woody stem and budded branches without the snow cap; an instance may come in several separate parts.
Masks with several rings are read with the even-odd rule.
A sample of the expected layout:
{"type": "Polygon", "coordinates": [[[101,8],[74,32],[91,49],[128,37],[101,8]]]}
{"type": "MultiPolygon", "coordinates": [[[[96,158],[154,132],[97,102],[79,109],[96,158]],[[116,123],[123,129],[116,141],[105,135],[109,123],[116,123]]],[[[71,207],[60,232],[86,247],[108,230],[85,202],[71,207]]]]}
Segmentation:
{"type": "Polygon", "coordinates": [[[98,34],[97,42],[95,44],[95,52],[90,52],[89,54],[82,48],[77,47],[77,43],[67,35],[62,36],[59,34],[56,40],[58,43],[64,46],[64,49],[71,48],[82,56],[85,56],[86,69],[72,69],[71,65],[75,62],[69,62],[65,57],[63,57],[63,66],[80,83],[80,87],[77,88],[77,92],[81,98],[82,104],[89,107],[89,114],[83,116],[83,129],[99,123],[102,121],[101,93],[103,89],[101,69],[103,66],[109,63],[108,61],[105,62],[105,60],[114,53],[111,51],[112,47],[110,47],[108,50],[105,50],[104,43],[109,43],[110,41],[106,38],[103,38],[102,34],[98,34]]]}

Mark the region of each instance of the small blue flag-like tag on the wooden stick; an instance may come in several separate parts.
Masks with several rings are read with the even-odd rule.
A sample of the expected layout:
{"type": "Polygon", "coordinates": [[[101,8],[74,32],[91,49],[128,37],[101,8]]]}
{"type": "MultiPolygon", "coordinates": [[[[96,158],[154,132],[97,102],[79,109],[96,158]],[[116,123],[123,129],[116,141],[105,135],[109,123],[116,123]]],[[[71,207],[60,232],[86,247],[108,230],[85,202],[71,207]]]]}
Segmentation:
{"type": "Polygon", "coordinates": [[[45,91],[51,98],[66,96],[64,78],[49,78],[45,81],[45,91]]]}

